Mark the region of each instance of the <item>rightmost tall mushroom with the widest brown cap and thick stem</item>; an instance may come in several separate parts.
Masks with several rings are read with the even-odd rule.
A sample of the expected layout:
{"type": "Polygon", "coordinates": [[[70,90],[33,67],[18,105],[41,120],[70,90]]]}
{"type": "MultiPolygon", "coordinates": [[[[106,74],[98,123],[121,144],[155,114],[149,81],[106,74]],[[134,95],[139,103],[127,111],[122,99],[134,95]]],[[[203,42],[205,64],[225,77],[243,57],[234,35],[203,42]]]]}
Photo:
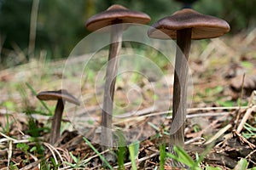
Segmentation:
{"type": "Polygon", "coordinates": [[[187,111],[188,59],[191,39],[221,37],[230,31],[225,20],[184,8],[167,16],[148,30],[148,36],[160,39],[177,39],[175,75],[172,100],[172,126],[169,151],[172,145],[183,145],[184,122],[187,111]],[[164,34],[164,33],[165,34],[164,34]]]}

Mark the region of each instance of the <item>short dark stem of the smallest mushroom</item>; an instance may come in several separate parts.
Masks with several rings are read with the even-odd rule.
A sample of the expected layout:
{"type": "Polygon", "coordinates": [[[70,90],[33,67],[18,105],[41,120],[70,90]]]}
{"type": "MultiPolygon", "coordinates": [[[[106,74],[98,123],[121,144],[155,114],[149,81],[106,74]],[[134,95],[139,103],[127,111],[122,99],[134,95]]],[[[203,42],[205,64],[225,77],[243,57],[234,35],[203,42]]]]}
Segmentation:
{"type": "Polygon", "coordinates": [[[64,105],[65,105],[65,100],[58,99],[58,102],[55,108],[55,115],[51,123],[50,137],[49,137],[50,144],[55,144],[57,139],[60,138],[61,117],[64,111],[64,105]]]}

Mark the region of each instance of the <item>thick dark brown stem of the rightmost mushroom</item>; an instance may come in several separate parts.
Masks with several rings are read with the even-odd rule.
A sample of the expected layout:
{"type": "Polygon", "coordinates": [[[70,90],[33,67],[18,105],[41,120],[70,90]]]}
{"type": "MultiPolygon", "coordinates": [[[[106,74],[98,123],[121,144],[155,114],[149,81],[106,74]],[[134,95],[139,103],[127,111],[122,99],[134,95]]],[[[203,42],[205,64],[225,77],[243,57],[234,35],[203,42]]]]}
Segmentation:
{"type": "Polygon", "coordinates": [[[172,127],[170,150],[172,145],[184,144],[184,126],[187,111],[187,90],[189,75],[189,50],[191,44],[191,28],[177,31],[177,51],[172,101],[172,127]]]}

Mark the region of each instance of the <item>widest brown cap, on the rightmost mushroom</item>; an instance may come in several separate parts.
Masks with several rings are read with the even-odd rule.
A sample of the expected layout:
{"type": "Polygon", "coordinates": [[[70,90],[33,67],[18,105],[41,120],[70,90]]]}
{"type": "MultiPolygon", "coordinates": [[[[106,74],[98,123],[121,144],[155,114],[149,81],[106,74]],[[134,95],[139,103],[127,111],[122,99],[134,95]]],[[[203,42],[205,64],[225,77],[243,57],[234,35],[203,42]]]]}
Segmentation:
{"type": "Polygon", "coordinates": [[[184,8],[167,16],[148,30],[148,36],[160,39],[176,39],[177,30],[191,28],[191,39],[221,37],[230,31],[230,25],[213,16],[200,14],[191,8],[184,8]],[[164,32],[166,35],[164,35],[164,32]]]}

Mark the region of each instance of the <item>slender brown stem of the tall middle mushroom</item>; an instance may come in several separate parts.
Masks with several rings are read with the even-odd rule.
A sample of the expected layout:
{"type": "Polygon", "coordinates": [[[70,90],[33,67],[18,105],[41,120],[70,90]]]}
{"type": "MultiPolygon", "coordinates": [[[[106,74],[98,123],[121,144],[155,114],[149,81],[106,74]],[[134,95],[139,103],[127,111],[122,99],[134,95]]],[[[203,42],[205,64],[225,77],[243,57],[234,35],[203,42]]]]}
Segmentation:
{"type": "Polygon", "coordinates": [[[108,67],[106,73],[102,109],[102,150],[107,150],[108,147],[113,147],[113,94],[119,66],[119,53],[122,45],[122,33],[123,31],[121,25],[111,26],[111,44],[109,46],[108,67]]]}

